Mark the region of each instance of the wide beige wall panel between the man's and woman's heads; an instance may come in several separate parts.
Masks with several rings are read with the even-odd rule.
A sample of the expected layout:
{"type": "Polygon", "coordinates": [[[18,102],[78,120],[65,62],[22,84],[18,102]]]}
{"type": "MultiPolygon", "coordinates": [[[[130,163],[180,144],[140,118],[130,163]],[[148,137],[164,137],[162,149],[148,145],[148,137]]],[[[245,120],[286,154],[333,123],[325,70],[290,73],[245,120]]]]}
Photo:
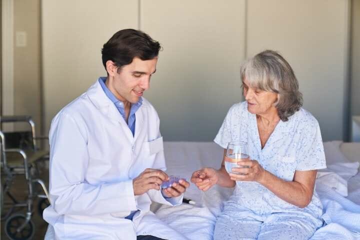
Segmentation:
{"type": "Polygon", "coordinates": [[[141,1],[141,30],[163,46],[145,97],[164,140],[211,141],[241,100],[244,8],[244,0],[141,1]]]}

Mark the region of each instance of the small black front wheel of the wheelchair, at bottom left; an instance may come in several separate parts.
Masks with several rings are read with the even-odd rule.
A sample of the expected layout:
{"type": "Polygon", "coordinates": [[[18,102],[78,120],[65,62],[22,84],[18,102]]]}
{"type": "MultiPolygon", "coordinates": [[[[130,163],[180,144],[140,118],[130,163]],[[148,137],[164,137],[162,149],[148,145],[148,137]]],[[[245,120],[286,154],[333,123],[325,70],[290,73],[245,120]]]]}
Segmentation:
{"type": "Polygon", "coordinates": [[[7,218],[5,222],[5,233],[7,237],[11,240],[29,240],[33,237],[34,224],[32,221],[28,221],[24,228],[21,231],[16,231],[16,229],[25,222],[26,217],[21,214],[11,215],[7,218]]]}

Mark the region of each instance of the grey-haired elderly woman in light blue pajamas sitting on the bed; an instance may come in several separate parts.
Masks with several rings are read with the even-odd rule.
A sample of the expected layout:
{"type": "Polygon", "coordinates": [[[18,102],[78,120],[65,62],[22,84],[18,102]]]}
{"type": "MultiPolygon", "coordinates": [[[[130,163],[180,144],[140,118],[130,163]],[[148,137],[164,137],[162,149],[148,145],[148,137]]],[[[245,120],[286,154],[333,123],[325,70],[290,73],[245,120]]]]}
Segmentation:
{"type": "Polygon", "coordinates": [[[314,191],[316,171],[326,167],[318,122],[301,108],[296,77],[277,52],[247,60],[241,79],[245,101],[230,107],[214,141],[223,148],[247,142],[250,158],[227,173],[224,152],[220,169],[205,167],[191,176],[203,191],[235,186],[214,239],[308,239],[322,225],[314,191]]]}

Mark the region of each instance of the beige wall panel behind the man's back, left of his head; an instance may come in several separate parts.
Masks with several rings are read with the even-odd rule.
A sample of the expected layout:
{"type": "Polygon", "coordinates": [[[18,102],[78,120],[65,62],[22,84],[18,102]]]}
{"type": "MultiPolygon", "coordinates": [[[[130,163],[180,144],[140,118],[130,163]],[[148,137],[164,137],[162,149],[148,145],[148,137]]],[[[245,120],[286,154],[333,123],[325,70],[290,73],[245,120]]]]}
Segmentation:
{"type": "Polygon", "coordinates": [[[42,1],[46,130],[52,117],[100,75],[101,48],[122,28],[137,28],[137,1],[42,1]]]}

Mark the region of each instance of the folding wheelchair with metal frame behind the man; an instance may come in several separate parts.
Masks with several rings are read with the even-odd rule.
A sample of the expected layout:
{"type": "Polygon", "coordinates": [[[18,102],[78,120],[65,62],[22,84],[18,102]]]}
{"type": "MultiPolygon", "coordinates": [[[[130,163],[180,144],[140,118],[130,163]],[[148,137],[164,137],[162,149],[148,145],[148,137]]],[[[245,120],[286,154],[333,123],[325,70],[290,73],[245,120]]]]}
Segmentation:
{"type": "Polygon", "coordinates": [[[11,240],[28,240],[33,237],[35,232],[34,224],[31,220],[33,212],[33,201],[35,197],[38,200],[38,212],[42,216],[42,211],[50,204],[47,188],[38,177],[40,162],[48,160],[48,150],[41,150],[36,144],[38,140],[44,140],[45,137],[36,137],[35,124],[30,116],[1,116],[1,125],[3,123],[25,122],[29,125],[29,131],[0,131],[0,155],[1,155],[1,220],[5,220],[4,230],[11,240]],[[18,201],[11,194],[11,185],[16,175],[23,175],[26,182],[27,198],[24,201],[18,201]],[[38,184],[35,184],[38,183],[38,184]],[[38,194],[36,187],[40,186],[42,194],[38,194]],[[10,208],[2,214],[4,194],[10,200],[10,208]],[[17,207],[27,207],[25,215],[14,213],[17,207]]]}

